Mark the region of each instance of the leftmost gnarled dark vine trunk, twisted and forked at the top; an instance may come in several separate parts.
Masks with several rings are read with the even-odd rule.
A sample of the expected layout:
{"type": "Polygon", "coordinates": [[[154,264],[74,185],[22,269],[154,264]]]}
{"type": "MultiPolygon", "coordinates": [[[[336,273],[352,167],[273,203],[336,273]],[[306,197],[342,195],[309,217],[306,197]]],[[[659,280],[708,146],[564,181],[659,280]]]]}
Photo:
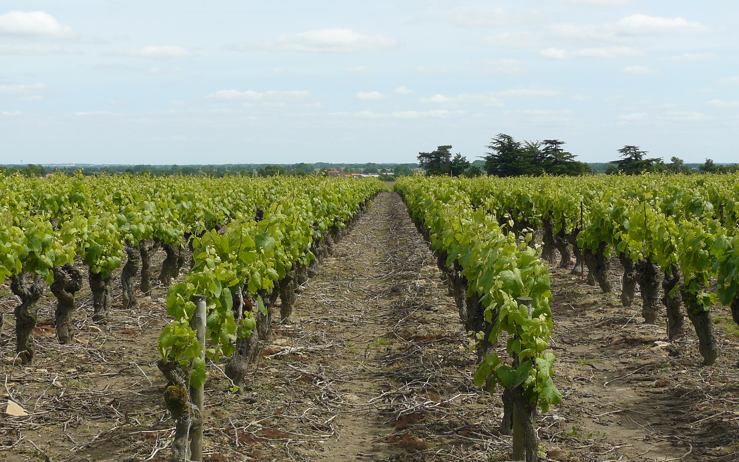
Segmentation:
{"type": "Polygon", "coordinates": [[[33,348],[33,328],[36,326],[35,304],[44,294],[44,278],[33,275],[29,282],[26,273],[14,275],[10,279],[10,290],[21,299],[16,306],[16,353],[23,364],[32,364],[35,354],[33,348]]]}

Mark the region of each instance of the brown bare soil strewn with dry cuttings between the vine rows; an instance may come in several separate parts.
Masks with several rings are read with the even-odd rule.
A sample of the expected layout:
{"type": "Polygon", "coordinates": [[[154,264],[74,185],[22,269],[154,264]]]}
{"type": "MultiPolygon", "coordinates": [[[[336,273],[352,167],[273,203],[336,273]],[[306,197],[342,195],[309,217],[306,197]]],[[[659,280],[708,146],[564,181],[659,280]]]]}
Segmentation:
{"type": "MultiPolygon", "coordinates": [[[[542,460],[738,461],[739,329],[729,311],[713,312],[722,355],[705,368],[688,321],[667,345],[664,322],[640,322],[638,294],[623,308],[618,294],[550,272],[565,399],[538,418],[542,460]]],[[[18,302],[7,284],[0,291],[9,339],[18,302]]],[[[0,416],[0,456],[168,460],[174,421],[156,368],[165,294],[155,287],[124,311],[115,283],[114,317],[98,331],[85,286],[69,346],[48,323],[55,299],[43,297],[36,364],[14,361],[14,339],[0,349],[2,401],[29,413],[0,416]]],[[[302,286],[291,320],[274,326],[245,393],[231,393],[222,365],[209,365],[205,460],[506,461],[500,394],[472,384],[470,347],[434,256],[401,199],[381,193],[302,286]]]]}

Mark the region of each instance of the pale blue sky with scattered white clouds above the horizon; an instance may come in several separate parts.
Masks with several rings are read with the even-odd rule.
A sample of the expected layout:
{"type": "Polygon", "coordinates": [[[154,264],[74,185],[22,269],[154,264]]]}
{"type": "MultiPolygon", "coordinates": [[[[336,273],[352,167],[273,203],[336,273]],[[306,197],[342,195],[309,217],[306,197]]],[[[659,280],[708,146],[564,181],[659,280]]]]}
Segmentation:
{"type": "Polygon", "coordinates": [[[739,2],[0,2],[0,164],[739,162],[739,2]]]}

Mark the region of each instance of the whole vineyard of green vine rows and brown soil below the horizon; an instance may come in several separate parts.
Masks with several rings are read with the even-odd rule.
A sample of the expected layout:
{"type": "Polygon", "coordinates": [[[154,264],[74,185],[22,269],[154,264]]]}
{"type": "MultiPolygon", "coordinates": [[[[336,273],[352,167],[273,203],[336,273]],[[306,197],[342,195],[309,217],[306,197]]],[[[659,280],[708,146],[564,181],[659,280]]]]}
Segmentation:
{"type": "Polygon", "coordinates": [[[738,180],[3,177],[0,455],[736,460],[738,180]]]}

